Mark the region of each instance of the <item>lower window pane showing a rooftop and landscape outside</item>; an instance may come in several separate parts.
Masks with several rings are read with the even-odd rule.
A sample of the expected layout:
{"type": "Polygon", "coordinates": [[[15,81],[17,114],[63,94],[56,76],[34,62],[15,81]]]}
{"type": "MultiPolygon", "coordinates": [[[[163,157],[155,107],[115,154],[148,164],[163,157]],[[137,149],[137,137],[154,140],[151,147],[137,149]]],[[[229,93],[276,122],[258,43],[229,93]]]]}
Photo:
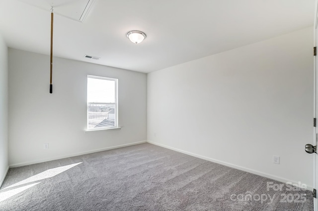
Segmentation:
{"type": "Polygon", "coordinates": [[[115,104],[88,104],[88,129],[115,126],[115,104]]]}

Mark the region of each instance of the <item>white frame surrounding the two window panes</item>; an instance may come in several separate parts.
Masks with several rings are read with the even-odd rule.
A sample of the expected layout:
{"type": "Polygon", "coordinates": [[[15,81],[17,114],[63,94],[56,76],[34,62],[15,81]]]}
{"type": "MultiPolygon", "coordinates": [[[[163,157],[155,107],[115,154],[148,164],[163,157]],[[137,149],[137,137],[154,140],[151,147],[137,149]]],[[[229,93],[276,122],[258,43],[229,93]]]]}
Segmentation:
{"type": "Polygon", "coordinates": [[[108,130],[108,129],[117,129],[118,127],[118,79],[117,78],[111,78],[111,77],[102,77],[102,76],[96,76],[96,75],[87,75],[86,78],[86,102],[87,102],[87,117],[86,117],[86,122],[87,122],[87,131],[99,131],[99,130],[108,130]],[[96,79],[102,79],[102,80],[112,80],[115,81],[115,102],[114,103],[109,103],[109,102],[88,102],[87,100],[87,95],[88,95],[88,89],[87,89],[87,84],[88,84],[88,78],[96,78],[96,79]],[[88,128],[88,105],[89,104],[114,104],[115,105],[115,125],[110,126],[110,127],[100,127],[100,128],[88,128]]]}

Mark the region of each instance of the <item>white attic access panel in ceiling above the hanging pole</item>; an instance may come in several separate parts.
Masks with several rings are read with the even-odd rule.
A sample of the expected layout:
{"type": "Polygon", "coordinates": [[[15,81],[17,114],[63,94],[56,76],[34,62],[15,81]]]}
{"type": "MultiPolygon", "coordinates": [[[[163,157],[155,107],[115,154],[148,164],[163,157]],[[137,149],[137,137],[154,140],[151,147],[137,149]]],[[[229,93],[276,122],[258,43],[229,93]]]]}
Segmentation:
{"type": "Polygon", "coordinates": [[[29,5],[36,6],[38,8],[51,12],[51,6],[53,6],[54,13],[60,14],[65,17],[84,21],[88,10],[93,3],[93,0],[19,0],[29,5]]]}

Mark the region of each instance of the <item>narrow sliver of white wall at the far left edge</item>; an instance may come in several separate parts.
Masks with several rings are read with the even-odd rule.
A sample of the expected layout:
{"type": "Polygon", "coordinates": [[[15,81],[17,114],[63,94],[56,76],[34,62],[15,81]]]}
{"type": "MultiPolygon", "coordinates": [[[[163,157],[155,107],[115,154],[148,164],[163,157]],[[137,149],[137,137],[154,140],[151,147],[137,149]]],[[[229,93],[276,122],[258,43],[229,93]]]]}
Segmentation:
{"type": "Polygon", "coordinates": [[[8,170],[8,48],[0,34],[0,187],[8,170]]]}

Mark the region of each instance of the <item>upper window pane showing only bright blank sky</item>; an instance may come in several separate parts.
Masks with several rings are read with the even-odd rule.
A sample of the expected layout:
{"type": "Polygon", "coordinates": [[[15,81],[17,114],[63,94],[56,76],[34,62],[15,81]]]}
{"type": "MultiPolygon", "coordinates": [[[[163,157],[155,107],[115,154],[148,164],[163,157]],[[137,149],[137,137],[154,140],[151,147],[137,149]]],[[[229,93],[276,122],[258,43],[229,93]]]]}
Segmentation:
{"type": "Polygon", "coordinates": [[[87,77],[87,102],[114,103],[115,81],[87,77]]]}

